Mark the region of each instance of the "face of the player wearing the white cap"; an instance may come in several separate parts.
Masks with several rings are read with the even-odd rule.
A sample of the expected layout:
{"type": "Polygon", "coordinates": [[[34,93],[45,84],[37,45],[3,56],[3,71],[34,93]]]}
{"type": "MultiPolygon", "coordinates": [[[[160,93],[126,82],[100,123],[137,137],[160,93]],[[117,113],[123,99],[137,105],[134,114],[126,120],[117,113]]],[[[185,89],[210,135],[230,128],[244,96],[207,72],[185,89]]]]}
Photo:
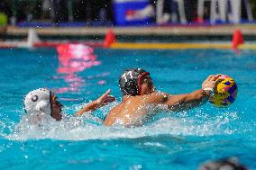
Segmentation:
{"type": "Polygon", "coordinates": [[[62,111],[62,104],[59,103],[57,96],[55,94],[51,95],[51,117],[56,121],[60,121],[62,119],[62,115],[60,112],[62,111]]]}

